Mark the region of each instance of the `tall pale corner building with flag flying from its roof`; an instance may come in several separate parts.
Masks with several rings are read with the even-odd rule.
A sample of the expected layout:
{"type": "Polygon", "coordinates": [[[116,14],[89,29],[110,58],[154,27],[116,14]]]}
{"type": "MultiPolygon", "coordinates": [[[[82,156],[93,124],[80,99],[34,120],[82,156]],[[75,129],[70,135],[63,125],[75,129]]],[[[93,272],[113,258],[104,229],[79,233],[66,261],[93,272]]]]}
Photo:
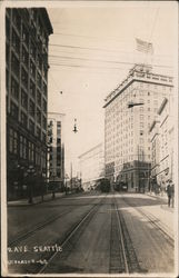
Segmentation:
{"type": "Polygon", "coordinates": [[[123,181],[129,191],[150,187],[151,142],[149,129],[163,97],[172,91],[172,78],[136,64],[105,103],[106,178],[123,181]],[[143,103],[128,108],[130,102],[143,103]]]}

